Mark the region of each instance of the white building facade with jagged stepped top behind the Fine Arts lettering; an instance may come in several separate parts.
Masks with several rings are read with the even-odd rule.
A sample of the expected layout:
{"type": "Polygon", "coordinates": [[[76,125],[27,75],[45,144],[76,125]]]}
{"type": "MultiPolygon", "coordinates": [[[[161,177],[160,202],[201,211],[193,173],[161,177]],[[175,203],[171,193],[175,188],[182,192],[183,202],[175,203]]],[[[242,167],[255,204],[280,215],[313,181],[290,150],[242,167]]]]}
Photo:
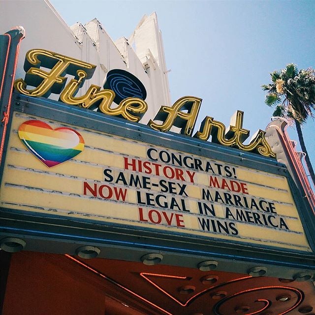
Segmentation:
{"type": "Polygon", "coordinates": [[[0,21],[0,33],[16,26],[22,26],[26,32],[16,78],[25,76],[26,53],[40,48],[96,65],[93,77],[80,89],[81,95],[91,84],[102,87],[106,74],[112,69],[123,69],[135,75],[146,88],[149,105],[141,123],[146,124],[153,118],[160,106],[171,105],[162,36],[155,12],[141,19],[129,39],[122,37],[116,41],[96,18],[85,25],[78,22],[68,27],[48,0],[1,1],[0,21]],[[36,19],[31,12],[36,12],[36,19]]]}

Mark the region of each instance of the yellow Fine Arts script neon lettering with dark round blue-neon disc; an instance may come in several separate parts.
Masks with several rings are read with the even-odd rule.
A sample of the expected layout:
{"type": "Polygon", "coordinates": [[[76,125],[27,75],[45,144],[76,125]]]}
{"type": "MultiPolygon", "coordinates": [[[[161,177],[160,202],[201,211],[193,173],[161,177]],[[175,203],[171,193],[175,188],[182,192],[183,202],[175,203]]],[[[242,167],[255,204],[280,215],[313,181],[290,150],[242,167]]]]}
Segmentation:
{"type": "MultiPolygon", "coordinates": [[[[32,49],[26,54],[24,69],[25,79],[14,83],[15,89],[24,95],[49,97],[51,93],[60,94],[59,100],[65,104],[96,109],[104,114],[139,122],[148,109],[145,102],[146,90],[139,79],[131,73],[114,69],[108,72],[104,89],[91,85],[85,95],[75,96],[86,79],[90,79],[95,65],[43,49],[32,49]],[[49,72],[41,67],[51,69],[49,72]],[[67,84],[66,74],[74,76],[67,84]],[[34,87],[28,89],[28,86],[34,87]],[[118,104],[115,108],[112,103],[118,104]]],[[[199,113],[201,98],[184,96],[169,106],[161,106],[154,120],[148,126],[157,131],[169,131],[172,126],[180,128],[180,133],[191,136],[199,113]],[[159,122],[156,122],[159,121],[159,122]]],[[[213,117],[205,117],[200,130],[193,137],[211,141],[247,152],[258,153],[265,157],[275,158],[265,139],[265,131],[258,130],[249,144],[244,141],[250,131],[243,128],[242,111],[237,111],[226,127],[213,117]]]]}

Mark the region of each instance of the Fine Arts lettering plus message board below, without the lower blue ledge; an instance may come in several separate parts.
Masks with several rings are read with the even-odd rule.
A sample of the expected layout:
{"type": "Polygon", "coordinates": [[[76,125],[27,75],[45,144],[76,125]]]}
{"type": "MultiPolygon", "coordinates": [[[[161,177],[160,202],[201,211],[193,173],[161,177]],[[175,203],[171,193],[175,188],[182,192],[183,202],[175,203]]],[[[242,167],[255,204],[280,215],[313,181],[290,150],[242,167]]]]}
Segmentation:
{"type": "Polygon", "coordinates": [[[312,252],[291,179],[272,159],[263,131],[243,144],[249,131],[242,127],[242,112],[227,133],[222,123],[206,117],[190,138],[201,103],[196,97],[162,106],[156,117],[162,123],[139,127],[136,122],[148,106],[146,93],[126,71],[111,72],[105,90],[92,86],[80,97],[73,95],[92,76],[91,64],[33,50],[26,71],[26,81],[15,82],[22,93],[16,99],[28,105],[21,108],[17,101],[14,108],[1,180],[2,208],[312,252]],[[40,69],[40,63],[52,70],[40,69]],[[75,78],[65,86],[66,71],[75,78]],[[100,108],[102,114],[35,97],[52,92],[61,93],[63,103],[100,108]],[[114,99],[119,104],[115,109],[114,99]],[[171,126],[186,136],[157,132],[171,126]],[[210,135],[225,147],[200,141],[210,135]],[[260,156],[243,156],[228,147],[260,156]]]}

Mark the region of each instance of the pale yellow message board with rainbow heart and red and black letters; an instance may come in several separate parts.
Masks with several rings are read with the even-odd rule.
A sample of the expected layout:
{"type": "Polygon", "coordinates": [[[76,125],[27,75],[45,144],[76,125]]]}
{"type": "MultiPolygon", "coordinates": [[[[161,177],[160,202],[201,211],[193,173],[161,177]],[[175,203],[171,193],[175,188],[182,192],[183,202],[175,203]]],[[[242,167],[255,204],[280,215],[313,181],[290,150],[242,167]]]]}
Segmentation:
{"type": "Polygon", "coordinates": [[[311,251],[287,178],[14,112],[1,206],[311,251]]]}

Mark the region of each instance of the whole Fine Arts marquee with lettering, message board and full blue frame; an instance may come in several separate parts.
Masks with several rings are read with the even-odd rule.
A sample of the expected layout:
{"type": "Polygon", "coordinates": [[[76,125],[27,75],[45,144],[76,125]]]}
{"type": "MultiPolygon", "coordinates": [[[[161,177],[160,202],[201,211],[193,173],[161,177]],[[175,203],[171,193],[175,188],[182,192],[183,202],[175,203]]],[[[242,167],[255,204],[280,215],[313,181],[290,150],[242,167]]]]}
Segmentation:
{"type": "Polygon", "coordinates": [[[313,214],[265,131],[246,142],[243,112],[228,127],[206,116],[193,134],[202,100],[184,96],[145,126],[146,90],[127,71],[76,96],[95,65],[33,49],[24,69],[11,108],[1,105],[3,237],[23,236],[31,251],[87,244],[130,261],[168,252],[165,264],[220,260],[240,273],[264,262],[284,266],[282,277],[314,266],[313,214]]]}

